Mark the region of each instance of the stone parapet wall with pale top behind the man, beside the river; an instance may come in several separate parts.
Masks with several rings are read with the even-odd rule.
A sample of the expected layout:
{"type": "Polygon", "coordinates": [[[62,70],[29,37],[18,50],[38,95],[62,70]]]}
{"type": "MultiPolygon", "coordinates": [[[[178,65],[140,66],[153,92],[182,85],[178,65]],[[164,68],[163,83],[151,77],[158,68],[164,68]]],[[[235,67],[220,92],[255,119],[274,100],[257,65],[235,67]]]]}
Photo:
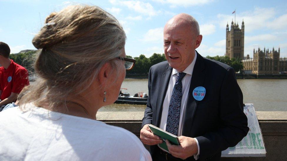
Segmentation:
{"type": "MultiPolygon", "coordinates": [[[[287,111],[257,111],[266,157],[231,157],[222,160],[287,160],[287,111]]],[[[98,112],[97,120],[119,126],[139,137],[143,112],[98,112]]],[[[146,146],[148,148],[148,146],[146,146]]]]}

